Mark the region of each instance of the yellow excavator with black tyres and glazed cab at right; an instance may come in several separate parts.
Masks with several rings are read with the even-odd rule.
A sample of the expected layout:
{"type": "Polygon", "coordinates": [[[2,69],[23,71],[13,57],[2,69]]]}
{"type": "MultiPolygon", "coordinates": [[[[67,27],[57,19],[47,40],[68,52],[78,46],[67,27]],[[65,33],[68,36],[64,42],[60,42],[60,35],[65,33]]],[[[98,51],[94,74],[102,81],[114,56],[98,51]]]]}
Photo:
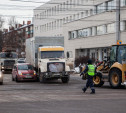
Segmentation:
{"type": "Polygon", "coordinates": [[[112,88],[119,88],[126,84],[126,44],[112,45],[110,56],[97,66],[95,86],[101,87],[109,82],[112,88]]]}

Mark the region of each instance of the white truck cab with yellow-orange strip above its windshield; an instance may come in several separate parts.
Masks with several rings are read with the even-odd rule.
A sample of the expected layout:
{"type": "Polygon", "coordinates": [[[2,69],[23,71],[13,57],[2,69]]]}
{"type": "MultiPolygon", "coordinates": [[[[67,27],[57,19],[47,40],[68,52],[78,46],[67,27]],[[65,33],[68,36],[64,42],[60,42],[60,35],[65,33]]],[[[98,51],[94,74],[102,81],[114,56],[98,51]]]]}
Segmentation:
{"type": "Polygon", "coordinates": [[[38,70],[40,82],[47,79],[69,81],[70,68],[66,65],[64,48],[61,46],[43,46],[38,48],[38,70]]]}

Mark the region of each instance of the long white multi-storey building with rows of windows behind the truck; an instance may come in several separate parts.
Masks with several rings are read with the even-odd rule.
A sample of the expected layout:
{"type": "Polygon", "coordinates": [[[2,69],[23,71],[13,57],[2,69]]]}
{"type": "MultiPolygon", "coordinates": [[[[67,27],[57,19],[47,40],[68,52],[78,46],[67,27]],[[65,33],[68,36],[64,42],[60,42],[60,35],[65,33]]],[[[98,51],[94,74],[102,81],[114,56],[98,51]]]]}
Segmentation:
{"type": "MultiPolygon", "coordinates": [[[[126,43],[126,0],[121,40],[126,43]]],[[[116,0],[51,0],[34,10],[35,36],[64,36],[65,54],[102,60],[116,44],[116,0]]]]}

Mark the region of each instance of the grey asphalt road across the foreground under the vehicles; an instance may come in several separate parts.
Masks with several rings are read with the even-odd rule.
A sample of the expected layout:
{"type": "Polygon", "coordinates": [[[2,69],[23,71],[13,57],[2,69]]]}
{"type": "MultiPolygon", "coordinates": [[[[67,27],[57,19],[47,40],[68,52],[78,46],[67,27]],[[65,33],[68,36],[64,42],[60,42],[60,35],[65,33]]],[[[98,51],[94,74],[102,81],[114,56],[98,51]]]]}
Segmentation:
{"type": "Polygon", "coordinates": [[[0,113],[126,113],[126,88],[112,89],[106,83],[82,92],[85,81],[78,75],[71,75],[68,84],[49,81],[11,81],[11,74],[4,74],[0,86],[0,113]]]}

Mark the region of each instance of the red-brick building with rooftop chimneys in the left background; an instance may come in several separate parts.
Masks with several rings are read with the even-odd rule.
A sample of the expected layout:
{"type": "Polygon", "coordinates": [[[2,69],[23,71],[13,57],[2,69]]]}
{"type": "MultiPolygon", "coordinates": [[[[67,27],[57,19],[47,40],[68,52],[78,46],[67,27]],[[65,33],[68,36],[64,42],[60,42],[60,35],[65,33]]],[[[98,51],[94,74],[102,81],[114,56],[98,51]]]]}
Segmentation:
{"type": "Polygon", "coordinates": [[[2,51],[15,51],[19,57],[25,55],[25,40],[33,37],[33,24],[28,21],[23,25],[16,24],[15,27],[9,27],[3,32],[3,47],[2,51]]]}

